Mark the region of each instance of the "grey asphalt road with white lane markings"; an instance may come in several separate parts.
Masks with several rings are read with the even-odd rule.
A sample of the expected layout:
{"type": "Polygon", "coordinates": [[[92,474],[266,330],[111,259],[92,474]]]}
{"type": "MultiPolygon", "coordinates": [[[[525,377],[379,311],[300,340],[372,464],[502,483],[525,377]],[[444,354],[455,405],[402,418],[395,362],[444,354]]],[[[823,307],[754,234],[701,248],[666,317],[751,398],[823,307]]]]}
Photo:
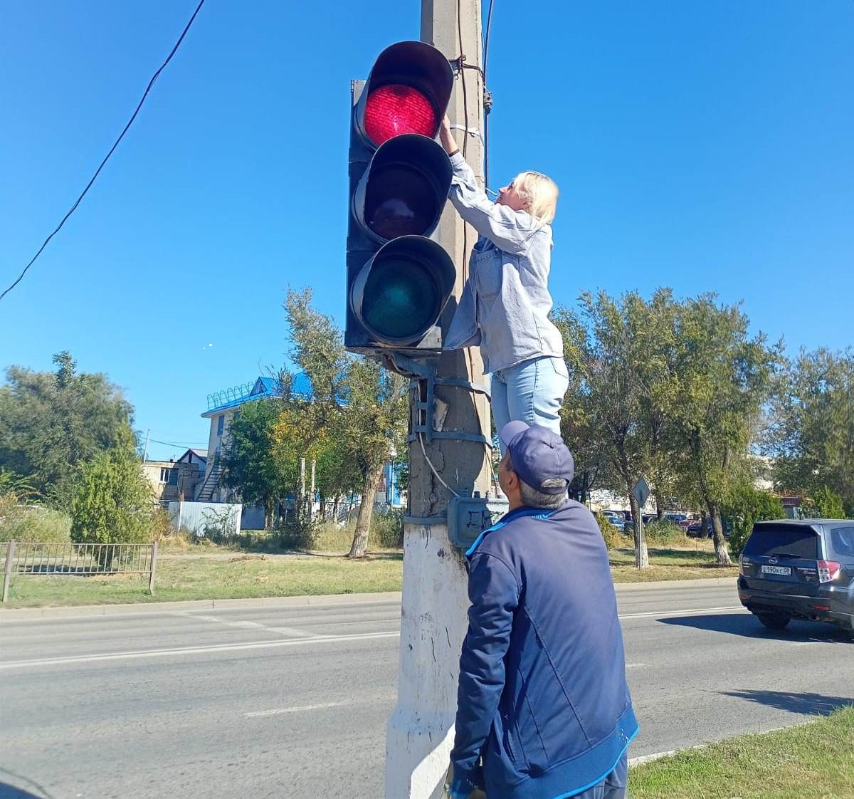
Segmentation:
{"type": "MultiPolygon", "coordinates": [[[[854,643],[731,581],[617,588],[647,755],[854,702],[854,643]]],[[[383,796],[400,603],[0,615],[0,797],[383,796]]]]}

